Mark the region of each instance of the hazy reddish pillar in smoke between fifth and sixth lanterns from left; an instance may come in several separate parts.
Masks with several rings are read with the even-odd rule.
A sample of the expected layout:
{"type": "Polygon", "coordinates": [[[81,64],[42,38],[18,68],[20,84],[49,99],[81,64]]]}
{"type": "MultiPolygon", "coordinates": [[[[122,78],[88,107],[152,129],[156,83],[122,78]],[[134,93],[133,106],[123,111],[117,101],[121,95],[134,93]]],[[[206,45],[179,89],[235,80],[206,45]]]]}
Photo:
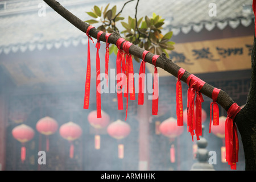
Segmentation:
{"type": "Polygon", "coordinates": [[[147,99],[144,99],[144,105],[138,105],[139,122],[139,171],[147,171],[150,162],[149,146],[149,113],[147,99]]]}

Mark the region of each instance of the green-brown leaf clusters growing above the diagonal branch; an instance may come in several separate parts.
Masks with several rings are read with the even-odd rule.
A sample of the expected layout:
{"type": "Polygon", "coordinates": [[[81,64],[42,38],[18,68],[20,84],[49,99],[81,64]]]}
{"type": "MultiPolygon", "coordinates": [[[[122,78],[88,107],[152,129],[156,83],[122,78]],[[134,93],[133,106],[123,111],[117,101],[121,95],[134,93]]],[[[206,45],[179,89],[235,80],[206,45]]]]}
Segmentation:
{"type": "MultiPolygon", "coordinates": [[[[109,9],[109,5],[105,8],[94,6],[92,11],[86,12],[93,19],[86,20],[88,24],[99,23],[98,30],[112,33],[119,31],[115,26],[115,23],[125,18],[121,17],[121,11],[117,13],[117,6],[113,6],[109,9]]],[[[128,22],[121,21],[123,38],[129,42],[144,48],[151,53],[160,55],[165,52],[168,56],[167,50],[174,49],[175,42],[170,41],[172,37],[172,31],[167,34],[162,34],[164,19],[161,16],[152,14],[152,17],[144,16],[139,19],[135,16],[128,17],[128,22]]],[[[115,45],[110,46],[109,53],[117,54],[117,47],[115,45]]],[[[135,60],[139,61],[137,57],[135,60]]]]}

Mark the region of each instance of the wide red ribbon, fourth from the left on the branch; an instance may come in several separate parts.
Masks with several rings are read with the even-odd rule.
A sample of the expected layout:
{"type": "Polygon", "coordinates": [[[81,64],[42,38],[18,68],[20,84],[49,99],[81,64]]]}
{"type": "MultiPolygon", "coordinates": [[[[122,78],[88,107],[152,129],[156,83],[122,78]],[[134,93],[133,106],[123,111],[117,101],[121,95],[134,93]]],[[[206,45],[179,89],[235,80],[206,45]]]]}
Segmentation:
{"type": "Polygon", "coordinates": [[[123,109],[123,95],[122,95],[122,88],[123,88],[123,73],[125,65],[122,64],[123,62],[123,51],[121,50],[121,44],[126,41],[123,38],[119,38],[117,40],[117,105],[118,110],[123,109]],[[123,69],[122,69],[123,67],[123,69]]]}

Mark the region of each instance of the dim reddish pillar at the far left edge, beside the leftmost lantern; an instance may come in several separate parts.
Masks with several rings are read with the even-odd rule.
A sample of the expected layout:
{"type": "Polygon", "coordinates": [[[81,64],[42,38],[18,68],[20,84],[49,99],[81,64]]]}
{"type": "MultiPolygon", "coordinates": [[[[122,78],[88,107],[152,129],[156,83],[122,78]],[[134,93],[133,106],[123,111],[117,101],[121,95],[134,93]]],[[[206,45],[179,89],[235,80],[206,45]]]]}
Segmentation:
{"type": "Polygon", "coordinates": [[[5,97],[0,95],[0,171],[5,170],[5,158],[6,158],[6,101],[5,97]]]}

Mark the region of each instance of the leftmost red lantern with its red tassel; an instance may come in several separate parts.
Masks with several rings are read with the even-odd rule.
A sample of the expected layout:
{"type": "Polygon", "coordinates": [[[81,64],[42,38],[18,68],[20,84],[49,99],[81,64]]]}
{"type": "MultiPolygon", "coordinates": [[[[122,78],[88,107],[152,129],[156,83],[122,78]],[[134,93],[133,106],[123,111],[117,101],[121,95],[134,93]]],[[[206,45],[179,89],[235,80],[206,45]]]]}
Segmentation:
{"type": "Polygon", "coordinates": [[[22,163],[26,159],[26,147],[24,144],[34,138],[35,132],[34,130],[25,124],[21,124],[19,126],[14,127],[12,131],[13,137],[22,143],[21,151],[20,151],[20,159],[22,163]]]}

